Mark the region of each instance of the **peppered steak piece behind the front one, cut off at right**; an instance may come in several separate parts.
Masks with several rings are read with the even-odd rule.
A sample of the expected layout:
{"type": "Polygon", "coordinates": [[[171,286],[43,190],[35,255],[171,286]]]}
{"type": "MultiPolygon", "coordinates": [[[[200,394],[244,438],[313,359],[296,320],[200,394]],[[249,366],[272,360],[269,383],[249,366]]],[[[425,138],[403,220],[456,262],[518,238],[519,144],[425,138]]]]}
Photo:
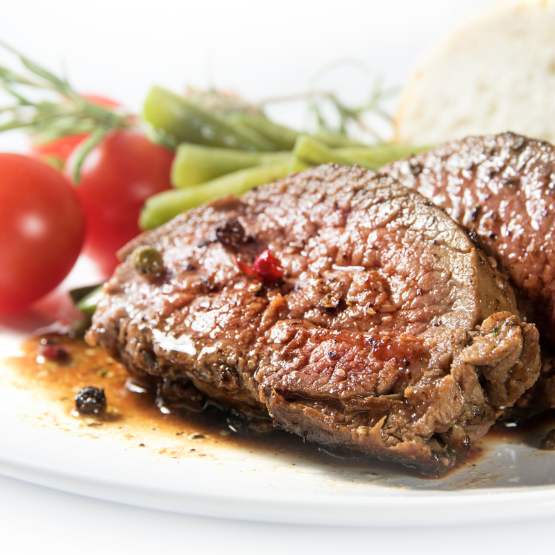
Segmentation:
{"type": "Polygon", "coordinates": [[[555,147],[513,133],[468,137],[380,169],[477,234],[540,331],[543,368],[520,402],[555,407],[555,147]]]}

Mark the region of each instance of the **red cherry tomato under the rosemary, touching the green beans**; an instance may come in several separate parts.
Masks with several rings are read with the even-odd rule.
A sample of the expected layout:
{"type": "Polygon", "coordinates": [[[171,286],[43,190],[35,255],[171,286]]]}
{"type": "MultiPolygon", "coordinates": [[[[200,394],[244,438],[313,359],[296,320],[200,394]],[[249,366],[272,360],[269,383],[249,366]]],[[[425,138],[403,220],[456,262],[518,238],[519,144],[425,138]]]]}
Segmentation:
{"type": "MultiPolygon", "coordinates": [[[[106,276],[118,264],[116,252],[139,234],[144,201],[171,187],[173,153],[142,133],[112,131],[85,158],[76,192],[85,209],[84,253],[106,276]]],[[[67,162],[71,176],[74,157],[67,162]]]]}

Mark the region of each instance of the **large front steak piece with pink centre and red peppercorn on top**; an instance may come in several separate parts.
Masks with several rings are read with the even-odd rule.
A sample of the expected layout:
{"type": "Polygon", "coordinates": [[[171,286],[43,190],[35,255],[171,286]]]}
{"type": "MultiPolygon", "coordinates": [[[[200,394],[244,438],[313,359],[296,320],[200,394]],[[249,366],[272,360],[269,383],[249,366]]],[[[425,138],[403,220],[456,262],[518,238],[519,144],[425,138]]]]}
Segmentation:
{"type": "Polygon", "coordinates": [[[536,328],[466,232],[356,167],[214,200],[120,257],[87,340],[173,406],[207,396],[438,475],[538,375],[536,328]],[[144,246],[160,275],[133,270],[144,246]],[[277,283],[248,269],[266,249],[277,283]]]}

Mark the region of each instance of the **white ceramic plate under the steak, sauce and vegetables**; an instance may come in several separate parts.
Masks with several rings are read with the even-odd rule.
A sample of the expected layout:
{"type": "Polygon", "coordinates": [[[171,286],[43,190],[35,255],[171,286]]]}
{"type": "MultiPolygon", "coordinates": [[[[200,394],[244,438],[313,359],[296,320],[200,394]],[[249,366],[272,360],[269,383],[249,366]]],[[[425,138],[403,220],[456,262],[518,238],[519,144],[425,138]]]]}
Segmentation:
{"type": "MultiPolygon", "coordinates": [[[[69,282],[85,275],[90,281],[83,268],[69,282]]],[[[56,316],[55,308],[51,303],[56,316]]],[[[33,314],[0,322],[0,356],[17,353],[26,334],[47,322],[48,316],[37,320],[33,314]]],[[[174,435],[151,438],[149,448],[142,449],[133,437],[76,422],[37,398],[32,388],[15,388],[10,371],[0,365],[1,473],[99,499],[196,515],[363,526],[547,518],[555,515],[555,452],[537,450],[539,438],[486,438],[478,459],[440,480],[373,459],[356,466],[315,459],[309,445],[303,456],[174,435]]]]}

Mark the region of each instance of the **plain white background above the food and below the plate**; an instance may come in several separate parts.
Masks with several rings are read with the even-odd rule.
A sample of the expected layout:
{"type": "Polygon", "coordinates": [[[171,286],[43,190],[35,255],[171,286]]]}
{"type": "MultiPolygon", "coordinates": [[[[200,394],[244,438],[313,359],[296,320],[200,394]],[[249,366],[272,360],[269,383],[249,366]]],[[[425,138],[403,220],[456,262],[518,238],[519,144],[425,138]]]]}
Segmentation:
{"type": "MultiPolygon", "coordinates": [[[[490,1],[0,0],[0,39],[76,89],[140,110],[154,83],[181,91],[234,89],[257,101],[302,92],[330,60],[357,58],[401,85],[430,45],[490,1]]],[[[0,63],[9,56],[0,53],[0,63]]],[[[330,76],[349,101],[370,79],[330,76]]],[[[301,126],[300,110],[275,108],[301,126]]],[[[17,135],[0,139],[19,150],[17,135]]],[[[1,449],[1,445],[0,445],[1,449]]],[[[255,524],[137,509],[0,477],[0,552],[5,554],[359,552],[520,553],[550,547],[555,522],[434,529],[346,529],[255,524]],[[533,547],[532,547],[533,546],[533,547]]]]}

